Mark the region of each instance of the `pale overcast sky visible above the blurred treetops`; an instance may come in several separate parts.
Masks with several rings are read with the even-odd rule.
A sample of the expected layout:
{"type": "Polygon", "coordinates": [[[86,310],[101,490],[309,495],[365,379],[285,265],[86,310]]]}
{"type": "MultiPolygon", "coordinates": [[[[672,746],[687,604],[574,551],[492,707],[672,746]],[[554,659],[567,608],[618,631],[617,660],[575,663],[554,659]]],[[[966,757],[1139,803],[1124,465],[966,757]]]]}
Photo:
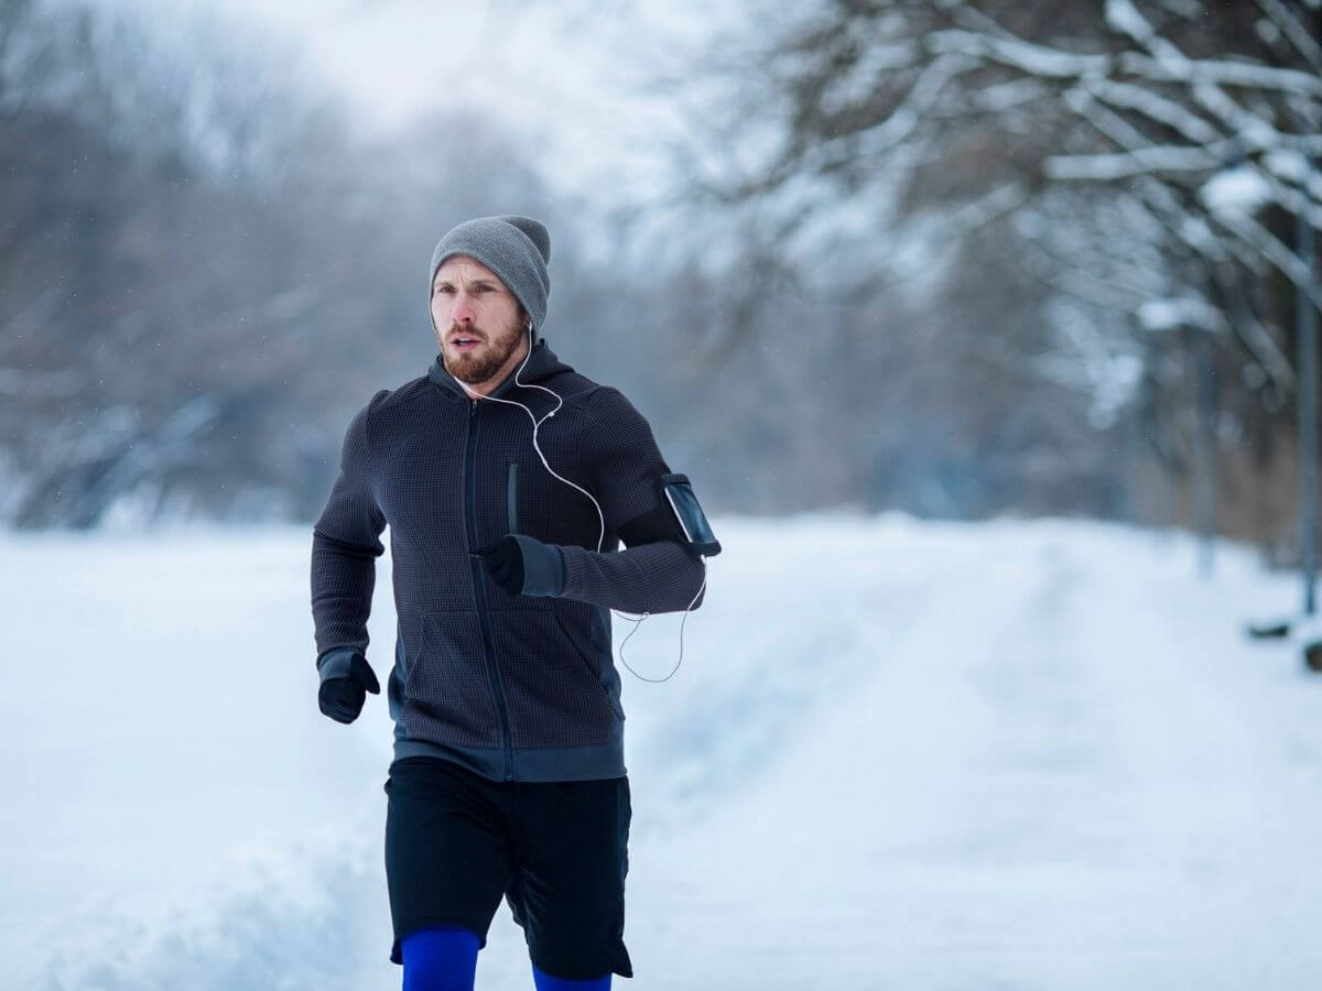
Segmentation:
{"type": "MultiPolygon", "coordinates": [[[[200,32],[217,30],[213,18],[226,34],[234,22],[239,44],[251,30],[254,48],[267,38],[290,45],[293,63],[282,71],[341,94],[368,136],[407,139],[430,110],[489,114],[518,136],[529,164],[584,225],[592,214],[646,203],[660,247],[636,238],[644,254],[678,247],[677,223],[717,243],[694,230],[701,218],[682,203],[673,207],[682,215],[665,206],[678,143],[706,143],[718,161],[732,153],[707,147],[711,98],[686,83],[695,66],[707,67],[702,53],[719,36],[747,36],[747,25],[768,20],[765,4],[756,13],[761,0],[73,1],[139,8],[185,59],[200,32]],[[662,77],[673,82],[658,85],[662,77]]],[[[600,248],[612,250],[605,239],[600,248]]]]}

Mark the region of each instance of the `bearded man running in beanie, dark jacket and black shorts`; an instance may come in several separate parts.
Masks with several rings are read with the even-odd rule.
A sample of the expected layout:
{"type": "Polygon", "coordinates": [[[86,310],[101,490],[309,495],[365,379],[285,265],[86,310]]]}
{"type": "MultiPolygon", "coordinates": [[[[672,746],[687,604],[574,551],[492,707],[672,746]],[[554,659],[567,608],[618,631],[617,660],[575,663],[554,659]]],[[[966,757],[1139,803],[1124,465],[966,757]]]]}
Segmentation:
{"type": "Polygon", "coordinates": [[[632,976],[609,610],[697,608],[714,551],[646,420],[539,336],[549,260],[527,217],[440,239],[440,354],[353,418],[313,527],[319,704],[352,723],[381,691],[366,621],[390,526],[386,880],[406,991],[472,988],[502,897],[538,991],[632,976]]]}

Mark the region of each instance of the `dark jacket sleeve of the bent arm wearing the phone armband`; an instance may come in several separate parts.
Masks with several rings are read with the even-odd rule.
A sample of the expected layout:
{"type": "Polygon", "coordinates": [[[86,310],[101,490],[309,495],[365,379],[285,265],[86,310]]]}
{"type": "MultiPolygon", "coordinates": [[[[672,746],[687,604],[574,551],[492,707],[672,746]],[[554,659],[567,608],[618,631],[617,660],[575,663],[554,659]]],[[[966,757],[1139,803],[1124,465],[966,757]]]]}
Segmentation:
{"type": "Polygon", "coordinates": [[[592,394],[579,453],[605,517],[607,539],[617,534],[628,550],[561,547],[561,596],[631,613],[702,605],[706,567],[681,543],[683,534],[661,494],[660,478],[670,469],[652,427],[619,390],[592,394]]]}

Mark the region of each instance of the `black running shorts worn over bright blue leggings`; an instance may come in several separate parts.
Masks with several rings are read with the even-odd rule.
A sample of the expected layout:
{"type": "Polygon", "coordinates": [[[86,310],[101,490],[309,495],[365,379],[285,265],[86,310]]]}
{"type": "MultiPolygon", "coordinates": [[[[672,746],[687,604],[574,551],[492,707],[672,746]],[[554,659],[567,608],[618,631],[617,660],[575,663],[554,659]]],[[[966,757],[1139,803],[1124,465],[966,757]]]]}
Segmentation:
{"type": "Polygon", "coordinates": [[[386,780],[386,884],[394,946],[461,926],[486,945],[504,896],[546,974],[633,976],[624,947],[629,781],[489,781],[438,757],[403,757],[386,780]]]}

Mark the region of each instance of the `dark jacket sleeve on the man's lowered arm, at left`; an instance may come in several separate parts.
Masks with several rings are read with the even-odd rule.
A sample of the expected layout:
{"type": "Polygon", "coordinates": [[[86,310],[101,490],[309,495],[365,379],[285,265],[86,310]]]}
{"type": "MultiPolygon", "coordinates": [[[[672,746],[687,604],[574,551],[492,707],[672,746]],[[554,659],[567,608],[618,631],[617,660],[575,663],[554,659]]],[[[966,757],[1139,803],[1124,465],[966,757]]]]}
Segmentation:
{"type": "Polygon", "coordinates": [[[349,424],[340,477],[312,527],[312,621],[323,680],[344,674],[352,655],[368,650],[368,616],[386,527],[373,494],[368,418],[383,395],[378,392],[349,424]]]}

